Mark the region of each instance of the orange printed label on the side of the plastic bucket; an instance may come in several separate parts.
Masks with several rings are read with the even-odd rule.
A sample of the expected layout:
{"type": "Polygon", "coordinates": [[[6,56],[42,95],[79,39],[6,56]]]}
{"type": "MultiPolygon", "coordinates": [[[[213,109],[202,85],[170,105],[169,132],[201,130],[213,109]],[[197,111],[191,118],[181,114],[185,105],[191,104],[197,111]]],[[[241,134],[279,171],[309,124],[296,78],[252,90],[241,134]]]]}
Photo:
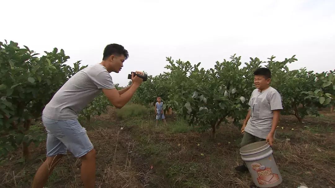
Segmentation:
{"type": "Polygon", "coordinates": [[[251,168],[257,172],[257,181],[260,185],[273,184],[279,181],[278,174],[273,174],[271,168],[265,167],[260,163],[252,163],[251,168]]]}

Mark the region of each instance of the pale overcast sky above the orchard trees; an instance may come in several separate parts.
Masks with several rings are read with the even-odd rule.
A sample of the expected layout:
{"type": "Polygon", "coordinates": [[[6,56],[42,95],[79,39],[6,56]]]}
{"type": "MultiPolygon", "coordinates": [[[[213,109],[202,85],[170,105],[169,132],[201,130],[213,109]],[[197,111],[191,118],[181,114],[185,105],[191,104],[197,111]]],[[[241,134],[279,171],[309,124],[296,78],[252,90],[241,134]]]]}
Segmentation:
{"type": "Polygon", "coordinates": [[[166,71],[166,56],[211,68],[234,53],[243,62],[296,55],[290,69],[335,69],[333,0],[1,1],[1,13],[1,41],[62,48],[71,63],[99,63],[107,44],[123,45],[130,57],[112,73],[122,86],[130,71],[166,71]]]}

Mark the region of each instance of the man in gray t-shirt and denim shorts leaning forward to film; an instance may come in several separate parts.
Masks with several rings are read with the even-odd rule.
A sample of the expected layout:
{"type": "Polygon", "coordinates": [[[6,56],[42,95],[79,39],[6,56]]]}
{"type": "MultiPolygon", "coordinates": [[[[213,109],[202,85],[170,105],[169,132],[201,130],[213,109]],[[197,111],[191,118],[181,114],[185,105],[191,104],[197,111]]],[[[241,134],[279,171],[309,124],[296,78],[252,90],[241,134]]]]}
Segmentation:
{"type": "Polygon", "coordinates": [[[126,105],[143,82],[132,74],[132,84],[117,90],[110,75],[120,72],[129,54],[119,44],[105,47],[103,60],[74,74],[55,93],[42,113],[47,136],[47,159],[38,169],[32,188],[43,188],[48,177],[63,155],[69,150],[81,159],[81,180],[84,188],[93,188],[95,183],[95,150],[85,128],[78,122],[77,113],[84,109],[101,91],[116,108],[126,105]]]}

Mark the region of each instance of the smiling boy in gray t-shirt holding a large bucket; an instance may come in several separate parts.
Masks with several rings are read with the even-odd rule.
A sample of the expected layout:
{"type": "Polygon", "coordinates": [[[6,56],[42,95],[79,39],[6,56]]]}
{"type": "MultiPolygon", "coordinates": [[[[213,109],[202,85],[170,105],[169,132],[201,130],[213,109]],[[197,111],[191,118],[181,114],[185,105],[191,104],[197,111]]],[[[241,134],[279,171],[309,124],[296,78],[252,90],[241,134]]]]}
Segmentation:
{"type": "MultiPolygon", "coordinates": [[[[276,89],[270,86],[270,69],[257,68],[254,75],[256,89],[251,94],[250,109],[241,128],[241,133],[244,133],[241,147],[264,140],[272,146],[280,110],[283,109],[281,96],[276,89]]],[[[245,164],[235,169],[239,172],[248,171],[245,164]]]]}

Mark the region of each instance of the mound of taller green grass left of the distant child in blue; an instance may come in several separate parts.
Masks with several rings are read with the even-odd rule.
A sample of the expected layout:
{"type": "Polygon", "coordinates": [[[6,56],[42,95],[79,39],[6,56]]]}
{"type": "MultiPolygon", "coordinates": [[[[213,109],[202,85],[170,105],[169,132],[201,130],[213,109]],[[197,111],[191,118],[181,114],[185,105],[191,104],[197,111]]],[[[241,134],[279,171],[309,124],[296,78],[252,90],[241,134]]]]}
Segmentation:
{"type": "Polygon", "coordinates": [[[116,110],[116,117],[125,120],[131,117],[147,116],[149,109],[139,104],[127,104],[121,109],[116,110]]]}

